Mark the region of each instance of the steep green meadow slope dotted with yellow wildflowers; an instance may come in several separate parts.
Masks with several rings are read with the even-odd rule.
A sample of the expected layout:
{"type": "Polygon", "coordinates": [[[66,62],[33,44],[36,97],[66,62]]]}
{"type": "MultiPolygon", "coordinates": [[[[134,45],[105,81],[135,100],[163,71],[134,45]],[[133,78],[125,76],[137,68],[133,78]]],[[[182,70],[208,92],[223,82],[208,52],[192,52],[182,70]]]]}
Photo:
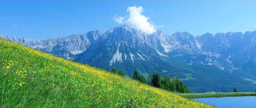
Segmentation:
{"type": "Polygon", "coordinates": [[[0,63],[2,108],[211,107],[3,39],[0,63]]]}

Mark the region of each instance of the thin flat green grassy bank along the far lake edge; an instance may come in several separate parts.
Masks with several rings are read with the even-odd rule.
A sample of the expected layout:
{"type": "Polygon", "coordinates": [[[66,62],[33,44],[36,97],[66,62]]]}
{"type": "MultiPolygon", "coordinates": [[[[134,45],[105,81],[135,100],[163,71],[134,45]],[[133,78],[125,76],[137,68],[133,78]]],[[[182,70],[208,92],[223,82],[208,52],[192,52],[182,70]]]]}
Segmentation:
{"type": "Polygon", "coordinates": [[[226,92],[226,93],[176,93],[184,98],[212,98],[212,97],[237,97],[256,96],[256,92],[226,92]]]}

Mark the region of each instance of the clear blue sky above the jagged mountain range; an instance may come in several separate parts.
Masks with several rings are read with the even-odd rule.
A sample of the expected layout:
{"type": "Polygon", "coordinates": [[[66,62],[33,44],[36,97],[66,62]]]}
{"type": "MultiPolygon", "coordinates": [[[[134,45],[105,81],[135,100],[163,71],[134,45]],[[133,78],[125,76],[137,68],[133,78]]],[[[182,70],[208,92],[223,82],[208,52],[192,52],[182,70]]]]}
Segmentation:
{"type": "Polygon", "coordinates": [[[0,34],[37,40],[102,32],[124,25],[113,20],[141,6],[156,29],[166,34],[187,31],[245,32],[256,29],[256,1],[0,1],[0,34]]]}

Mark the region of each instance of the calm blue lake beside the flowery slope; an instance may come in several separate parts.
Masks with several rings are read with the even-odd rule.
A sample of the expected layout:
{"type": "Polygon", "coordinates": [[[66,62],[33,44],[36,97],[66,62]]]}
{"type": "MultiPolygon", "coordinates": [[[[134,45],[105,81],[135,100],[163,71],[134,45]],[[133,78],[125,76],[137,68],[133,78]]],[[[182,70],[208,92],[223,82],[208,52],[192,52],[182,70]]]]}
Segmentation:
{"type": "Polygon", "coordinates": [[[256,108],[256,97],[221,97],[221,98],[195,98],[194,101],[220,108],[256,108]]]}

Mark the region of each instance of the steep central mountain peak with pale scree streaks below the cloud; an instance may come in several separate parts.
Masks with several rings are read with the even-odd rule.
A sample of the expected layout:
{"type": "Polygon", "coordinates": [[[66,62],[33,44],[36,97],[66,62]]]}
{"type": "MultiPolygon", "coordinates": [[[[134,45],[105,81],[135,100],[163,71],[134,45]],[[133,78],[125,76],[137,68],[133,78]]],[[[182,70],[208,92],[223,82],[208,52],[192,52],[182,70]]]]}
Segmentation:
{"type": "Polygon", "coordinates": [[[75,61],[108,70],[121,68],[128,76],[132,76],[134,69],[153,72],[169,66],[164,60],[166,57],[159,55],[138,33],[127,26],[112,28],[79,54],[75,61]]]}

